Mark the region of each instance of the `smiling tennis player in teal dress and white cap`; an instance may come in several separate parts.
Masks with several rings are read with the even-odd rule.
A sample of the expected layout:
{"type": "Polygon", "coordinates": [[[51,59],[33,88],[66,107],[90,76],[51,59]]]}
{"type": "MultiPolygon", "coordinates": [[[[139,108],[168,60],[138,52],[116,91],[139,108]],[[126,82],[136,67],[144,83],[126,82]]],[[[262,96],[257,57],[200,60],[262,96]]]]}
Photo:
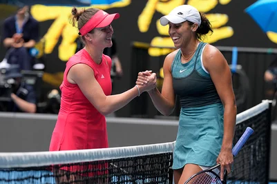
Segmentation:
{"type": "MultiPolygon", "coordinates": [[[[174,182],[184,183],[193,174],[220,163],[221,178],[233,163],[231,153],[236,125],[236,100],[231,72],[221,52],[201,42],[212,32],[209,20],[193,6],[174,8],[160,19],[169,26],[175,51],[164,59],[162,93],[149,91],[155,108],[169,115],[180,96],[178,135],[173,152],[174,182]]],[[[144,85],[151,72],[140,72],[144,85]]]]}

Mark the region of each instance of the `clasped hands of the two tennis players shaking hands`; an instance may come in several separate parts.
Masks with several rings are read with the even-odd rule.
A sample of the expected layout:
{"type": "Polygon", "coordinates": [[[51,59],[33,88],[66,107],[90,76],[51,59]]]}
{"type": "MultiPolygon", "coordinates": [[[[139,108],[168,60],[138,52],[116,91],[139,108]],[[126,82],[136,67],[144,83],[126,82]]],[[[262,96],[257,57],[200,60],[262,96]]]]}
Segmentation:
{"type": "Polygon", "coordinates": [[[137,81],[135,84],[139,91],[149,92],[150,90],[155,89],[157,82],[157,76],[155,73],[152,73],[152,70],[146,70],[145,72],[139,72],[137,74],[137,81]]]}

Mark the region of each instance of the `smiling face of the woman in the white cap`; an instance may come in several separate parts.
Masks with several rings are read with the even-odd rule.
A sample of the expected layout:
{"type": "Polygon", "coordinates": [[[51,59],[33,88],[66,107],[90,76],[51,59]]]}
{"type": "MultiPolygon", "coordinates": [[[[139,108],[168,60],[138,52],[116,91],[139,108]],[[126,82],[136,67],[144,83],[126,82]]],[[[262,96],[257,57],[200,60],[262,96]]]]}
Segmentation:
{"type": "Polygon", "coordinates": [[[189,25],[188,21],[182,23],[169,22],[169,36],[175,48],[182,48],[182,46],[187,45],[191,39],[195,39],[194,27],[193,25],[189,25]]]}

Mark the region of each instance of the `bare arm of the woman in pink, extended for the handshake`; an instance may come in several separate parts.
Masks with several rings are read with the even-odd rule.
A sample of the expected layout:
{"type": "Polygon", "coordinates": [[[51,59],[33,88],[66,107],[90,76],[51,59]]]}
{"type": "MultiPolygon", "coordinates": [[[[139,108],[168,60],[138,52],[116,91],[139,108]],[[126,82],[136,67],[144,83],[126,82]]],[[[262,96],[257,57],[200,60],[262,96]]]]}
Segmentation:
{"type": "MultiPolygon", "coordinates": [[[[95,79],[94,71],[86,64],[73,65],[68,72],[67,79],[70,83],[76,83],[86,96],[88,101],[95,106],[101,114],[111,114],[128,104],[138,95],[137,87],[121,94],[106,96],[95,79]]],[[[155,75],[149,77],[147,85],[139,86],[140,92],[151,90],[155,86],[155,75]]]]}

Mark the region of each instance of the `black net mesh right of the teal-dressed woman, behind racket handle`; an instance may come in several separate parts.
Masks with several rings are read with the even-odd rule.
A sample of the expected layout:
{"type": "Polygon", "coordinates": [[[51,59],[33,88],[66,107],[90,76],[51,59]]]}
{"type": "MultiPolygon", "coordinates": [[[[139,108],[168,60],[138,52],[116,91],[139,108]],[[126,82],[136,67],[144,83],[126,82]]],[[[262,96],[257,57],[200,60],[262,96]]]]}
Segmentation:
{"type": "Polygon", "coordinates": [[[242,136],[246,127],[251,127],[254,133],[249,137],[234,159],[233,172],[228,175],[229,183],[257,182],[268,183],[270,121],[269,110],[238,123],[236,125],[234,143],[242,136]]]}

